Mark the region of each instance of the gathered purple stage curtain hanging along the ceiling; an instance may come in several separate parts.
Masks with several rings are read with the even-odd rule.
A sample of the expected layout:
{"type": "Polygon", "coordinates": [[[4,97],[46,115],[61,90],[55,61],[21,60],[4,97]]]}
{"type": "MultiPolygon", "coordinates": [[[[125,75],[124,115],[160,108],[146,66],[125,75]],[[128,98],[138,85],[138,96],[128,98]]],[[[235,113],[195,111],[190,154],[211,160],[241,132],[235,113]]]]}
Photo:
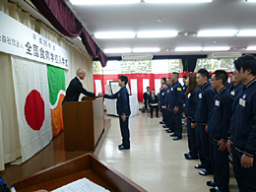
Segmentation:
{"type": "Polygon", "coordinates": [[[32,0],[32,4],[57,31],[69,37],[81,36],[88,53],[93,58],[98,58],[102,67],[106,66],[105,54],[63,0],[32,0]]]}

